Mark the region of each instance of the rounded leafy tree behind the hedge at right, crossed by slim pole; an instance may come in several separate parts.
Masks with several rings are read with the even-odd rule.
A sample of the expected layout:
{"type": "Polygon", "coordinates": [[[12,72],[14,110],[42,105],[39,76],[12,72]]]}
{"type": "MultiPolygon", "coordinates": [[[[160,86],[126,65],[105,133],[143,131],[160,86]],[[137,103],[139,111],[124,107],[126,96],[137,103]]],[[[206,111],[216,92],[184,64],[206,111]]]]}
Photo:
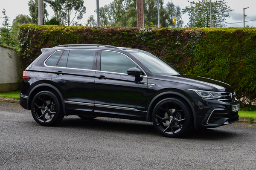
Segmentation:
{"type": "MultiPolygon", "coordinates": [[[[225,26],[225,17],[230,17],[229,12],[233,11],[226,5],[225,0],[216,0],[212,2],[212,20],[215,27],[225,26]]],[[[182,9],[183,14],[189,15],[189,27],[210,27],[210,2],[201,0],[197,3],[190,2],[190,6],[182,9]]]]}

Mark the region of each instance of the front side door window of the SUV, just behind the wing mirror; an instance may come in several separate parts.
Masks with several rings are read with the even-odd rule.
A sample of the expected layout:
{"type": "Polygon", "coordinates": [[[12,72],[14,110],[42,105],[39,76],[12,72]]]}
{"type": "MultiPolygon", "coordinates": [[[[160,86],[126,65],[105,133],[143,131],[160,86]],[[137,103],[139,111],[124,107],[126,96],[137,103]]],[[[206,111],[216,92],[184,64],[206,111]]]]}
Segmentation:
{"type": "Polygon", "coordinates": [[[125,55],[117,52],[102,51],[101,71],[105,72],[117,72],[127,74],[127,70],[137,65],[125,55]]]}

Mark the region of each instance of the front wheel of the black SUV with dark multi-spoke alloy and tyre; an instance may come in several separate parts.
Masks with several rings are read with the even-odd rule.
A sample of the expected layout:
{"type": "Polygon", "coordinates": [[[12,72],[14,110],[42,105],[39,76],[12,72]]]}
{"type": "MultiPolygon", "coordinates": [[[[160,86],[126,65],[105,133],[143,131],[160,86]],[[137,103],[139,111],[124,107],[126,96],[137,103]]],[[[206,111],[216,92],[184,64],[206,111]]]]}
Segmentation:
{"type": "Polygon", "coordinates": [[[192,125],[189,105],[180,98],[166,98],[156,104],[152,121],[154,128],[165,137],[175,138],[186,134],[192,125]]]}

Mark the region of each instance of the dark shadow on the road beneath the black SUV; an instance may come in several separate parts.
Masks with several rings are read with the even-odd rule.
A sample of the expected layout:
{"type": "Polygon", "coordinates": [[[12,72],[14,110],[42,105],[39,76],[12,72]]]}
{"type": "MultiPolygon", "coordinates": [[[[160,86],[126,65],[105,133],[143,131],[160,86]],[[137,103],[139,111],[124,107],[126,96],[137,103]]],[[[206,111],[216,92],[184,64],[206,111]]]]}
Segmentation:
{"type": "MultiPolygon", "coordinates": [[[[84,128],[87,130],[99,130],[101,132],[121,132],[134,133],[140,135],[161,136],[154,129],[150,122],[132,121],[116,118],[95,118],[93,120],[83,120],[79,117],[64,118],[57,127],[63,128],[84,128]]],[[[218,127],[212,129],[191,129],[189,133],[180,137],[183,139],[200,139],[200,140],[221,140],[234,138],[239,134],[229,131],[225,128],[218,127]]],[[[164,138],[164,137],[163,137],[164,138]]]]}

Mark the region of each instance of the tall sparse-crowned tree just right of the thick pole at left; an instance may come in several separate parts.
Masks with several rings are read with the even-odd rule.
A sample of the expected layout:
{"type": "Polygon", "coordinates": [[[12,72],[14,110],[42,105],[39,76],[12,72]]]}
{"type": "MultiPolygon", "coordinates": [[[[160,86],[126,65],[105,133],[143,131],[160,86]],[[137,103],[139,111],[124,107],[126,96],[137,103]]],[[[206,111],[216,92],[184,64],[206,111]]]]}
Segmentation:
{"type": "Polygon", "coordinates": [[[80,25],[78,22],[86,12],[83,0],[45,0],[45,2],[52,8],[61,25],[80,25]],[[74,21],[75,18],[78,22],[74,21]]]}

